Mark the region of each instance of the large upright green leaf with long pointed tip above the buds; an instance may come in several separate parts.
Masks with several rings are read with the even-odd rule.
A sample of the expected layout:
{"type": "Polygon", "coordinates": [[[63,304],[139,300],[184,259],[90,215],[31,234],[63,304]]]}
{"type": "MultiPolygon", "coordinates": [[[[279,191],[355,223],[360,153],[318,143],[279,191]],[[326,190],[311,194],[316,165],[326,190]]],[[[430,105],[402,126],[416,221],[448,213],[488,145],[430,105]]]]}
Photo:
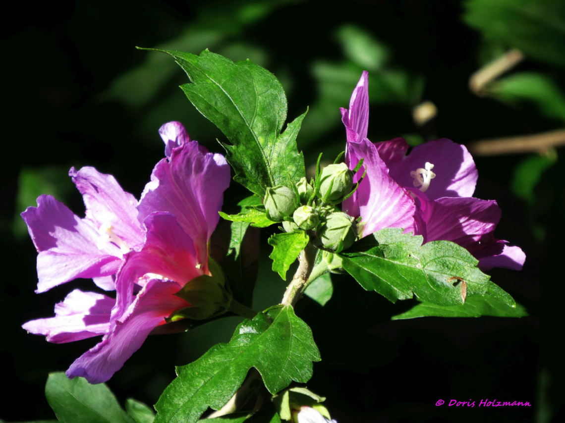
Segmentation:
{"type": "Polygon", "coordinates": [[[266,69],[231,60],[208,50],[200,55],[168,53],[184,69],[190,84],[181,86],[186,97],[218,127],[231,145],[222,143],[234,180],[263,197],[266,187],[292,186],[305,176],[304,158],[296,135],[305,114],[286,120],[286,95],[266,69]]]}

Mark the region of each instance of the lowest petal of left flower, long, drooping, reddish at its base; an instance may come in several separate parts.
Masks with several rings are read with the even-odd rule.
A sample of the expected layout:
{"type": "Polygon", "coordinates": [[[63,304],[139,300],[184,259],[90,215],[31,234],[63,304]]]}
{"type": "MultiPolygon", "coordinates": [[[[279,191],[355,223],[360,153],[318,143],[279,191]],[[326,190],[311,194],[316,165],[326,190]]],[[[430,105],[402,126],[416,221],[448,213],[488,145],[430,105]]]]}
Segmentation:
{"type": "Polygon", "coordinates": [[[147,335],[164,318],[189,304],[175,293],[176,282],[151,280],[137,294],[136,300],[112,325],[102,342],[82,354],[67,370],[67,376],[84,377],[90,383],[106,382],[144,343],[147,335]]]}

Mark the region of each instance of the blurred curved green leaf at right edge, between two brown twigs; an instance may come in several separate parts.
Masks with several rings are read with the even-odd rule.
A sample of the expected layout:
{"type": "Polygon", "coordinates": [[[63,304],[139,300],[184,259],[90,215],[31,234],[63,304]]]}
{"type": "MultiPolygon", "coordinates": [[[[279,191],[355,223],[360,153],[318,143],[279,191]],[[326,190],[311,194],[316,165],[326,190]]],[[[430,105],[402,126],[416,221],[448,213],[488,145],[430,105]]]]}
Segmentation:
{"type": "Polygon", "coordinates": [[[536,72],[514,73],[494,82],[489,93],[509,103],[528,101],[549,119],[565,122],[565,95],[549,77],[536,72]]]}

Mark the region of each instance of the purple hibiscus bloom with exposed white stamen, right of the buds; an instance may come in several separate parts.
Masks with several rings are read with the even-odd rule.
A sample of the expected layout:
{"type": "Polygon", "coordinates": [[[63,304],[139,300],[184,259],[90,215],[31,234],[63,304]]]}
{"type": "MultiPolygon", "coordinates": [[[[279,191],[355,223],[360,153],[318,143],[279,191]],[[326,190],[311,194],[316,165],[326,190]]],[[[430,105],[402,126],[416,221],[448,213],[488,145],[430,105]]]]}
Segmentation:
{"type": "MultiPolygon", "coordinates": [[[[364,71],[342,108],[346,128],[345,161],[353,169],[364,159],[367,176],[343,203],[344,211],[362,217],[362,236],[384,228],[404,228],[424,242],[444,239],[467,248],[483,270],[520,270],[521,248],[494,237],[501,210],[494,200],[473,198],[477,169],[466,147],[442,138],[406,154],[403,138],[373,143],[367,138],[368,73],[364,71]],[[432,170],[433,169],[433,170],[432,170]]],[[[359,179],[361,171],[355,176],[359,179]]]]}

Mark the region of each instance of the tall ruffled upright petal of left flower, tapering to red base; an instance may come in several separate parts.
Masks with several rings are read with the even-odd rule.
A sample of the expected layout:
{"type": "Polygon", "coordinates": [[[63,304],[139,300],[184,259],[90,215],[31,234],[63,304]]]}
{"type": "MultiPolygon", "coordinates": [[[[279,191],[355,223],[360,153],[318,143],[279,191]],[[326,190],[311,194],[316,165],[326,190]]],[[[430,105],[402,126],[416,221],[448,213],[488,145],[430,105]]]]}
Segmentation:
{"type": "Polygon", "coordinates": [[[140,221],[155,211],[169,212],[194,240],[200,263],[207,262],[207,242],[220,216],[229,186],[229,165],[221,154],[206,152],[197,142],[173,150],[161,160],[145,186],[138,206],[140,221]]]}

